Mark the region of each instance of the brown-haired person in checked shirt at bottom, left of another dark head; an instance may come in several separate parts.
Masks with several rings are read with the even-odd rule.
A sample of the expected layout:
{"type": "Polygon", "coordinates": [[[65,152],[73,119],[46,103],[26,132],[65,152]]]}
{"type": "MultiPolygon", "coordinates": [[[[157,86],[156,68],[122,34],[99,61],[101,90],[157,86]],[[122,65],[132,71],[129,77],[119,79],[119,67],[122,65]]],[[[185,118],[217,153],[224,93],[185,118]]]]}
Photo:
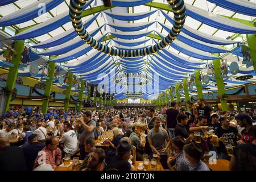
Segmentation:
{"type": "Polygon", "coordinates": [[[177,136],[172,139],[172,149],[175,151],[176,156],[171,156],[167,160],[167,165],[170,171],[189,171],[189,162],[185,158],[183,147],[185,145],[185,139],[177,136]],[[171,166],[171,163],[176,159],[175,166],[171,166]]]}

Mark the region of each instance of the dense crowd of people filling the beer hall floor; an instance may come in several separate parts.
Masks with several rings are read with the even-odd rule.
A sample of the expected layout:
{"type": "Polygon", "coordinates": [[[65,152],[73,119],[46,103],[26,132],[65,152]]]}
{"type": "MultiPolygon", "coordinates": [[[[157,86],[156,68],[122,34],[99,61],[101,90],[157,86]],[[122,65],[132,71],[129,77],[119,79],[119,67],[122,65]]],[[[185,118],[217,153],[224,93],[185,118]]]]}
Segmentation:
{"type": "Polygon", "coordinates": [[[214,111],[204,100],[189,108],[171,102],[162,109],[10,110],[0,118],[0,170],[54,170],[69,154],[82,160],[81,171],[129,171],[147,154],[166,170],[209,171],[210,151],[229,160],[231,170],[256,169],[255,111],[214,111]],[[145,143],[136,123],[147,125],[145,143]],[[110,146],[96,146],[109,131],[110,146]]]}

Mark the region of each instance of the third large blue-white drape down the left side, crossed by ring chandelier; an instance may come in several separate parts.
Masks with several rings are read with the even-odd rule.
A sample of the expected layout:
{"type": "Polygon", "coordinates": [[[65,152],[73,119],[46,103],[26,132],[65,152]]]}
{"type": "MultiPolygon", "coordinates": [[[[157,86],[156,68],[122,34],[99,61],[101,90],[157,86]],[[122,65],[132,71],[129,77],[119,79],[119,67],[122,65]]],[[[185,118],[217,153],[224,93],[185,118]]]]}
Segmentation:
{"type": "MultiPolygon", "coordinates": [[[[90,24],[92,24],[94,22],[94,20],[96,20],[96,18],[98,17],[100,13],[92,16],[92,18],[89,18],[88,20],[86,20],[84,22],[84,27],[88,28],[90,26],[90,24]]],[[[34,48],[49,48],[49,47],[54,47],[54,46],[58,46],[60,44],[66,43],[69,40],[72,40],[74,38],[77,37],[77,33],[74,30],[74,28],[69,29],[68,31],[65,31],[63,33],[61,33],[60,35],[57,35],[51,39],[45,40],[43,42],[40,42],[38,44],[36,44],[35,46],[32,46],[34,48]]]]}

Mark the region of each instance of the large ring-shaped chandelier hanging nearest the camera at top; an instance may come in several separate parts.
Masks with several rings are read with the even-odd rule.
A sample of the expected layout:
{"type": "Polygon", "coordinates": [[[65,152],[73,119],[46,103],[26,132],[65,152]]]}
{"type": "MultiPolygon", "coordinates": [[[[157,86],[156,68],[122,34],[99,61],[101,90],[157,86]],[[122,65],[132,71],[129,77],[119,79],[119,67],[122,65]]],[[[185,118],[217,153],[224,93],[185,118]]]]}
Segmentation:
{"type": "Polygon", "coordinates": [[[183,28],[185,23],[185,3],[183,0],[167,0],[169,5],[172,7],[174,12],[174,26],[172,27],[169,34],[159,43],[154,46],[150,46],[143,49],[135,50],[121,50],[115,49],[108,46],[104,46],[97,40],[93,39],[92,36],[86,31],[84,25],[82,24],[82,9],[85,6],[86,1],[89,0],[71,0],[69,5],[69,16],[71,16],[72,25],[75,28],[77,34],[84,40],[87,44],[92,46],[94,49],[97,49],[100,52],[107,53],[112,56],[121,56],[121,57],[138,57],[151,55],[155,52],[160,51],[161,49],[169,46],[179,35],[180,31],[183,28]]]}

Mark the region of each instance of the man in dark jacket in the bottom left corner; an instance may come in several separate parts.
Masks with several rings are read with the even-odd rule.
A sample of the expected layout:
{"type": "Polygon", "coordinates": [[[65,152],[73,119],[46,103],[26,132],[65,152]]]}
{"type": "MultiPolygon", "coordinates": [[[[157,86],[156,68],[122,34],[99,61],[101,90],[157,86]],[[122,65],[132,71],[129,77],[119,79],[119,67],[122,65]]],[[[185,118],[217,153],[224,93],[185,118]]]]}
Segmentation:
{"type": "Polygon", "coordinates": [[[26,171],[22,148],[10,146],[9,140],[0,138],[0,171],[26,171]]]}

